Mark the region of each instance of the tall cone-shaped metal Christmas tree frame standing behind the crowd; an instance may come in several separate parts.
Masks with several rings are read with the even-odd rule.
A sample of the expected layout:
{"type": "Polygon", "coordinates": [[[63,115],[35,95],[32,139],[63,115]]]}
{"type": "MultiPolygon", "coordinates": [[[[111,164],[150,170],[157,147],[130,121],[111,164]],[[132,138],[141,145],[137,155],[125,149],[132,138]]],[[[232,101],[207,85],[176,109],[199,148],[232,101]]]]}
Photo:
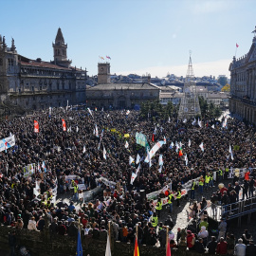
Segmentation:
{"type": "Polygon", "coordinates": [[[184,98],[181,98],[180,101],[178,119],[193,119],[196,116],[201,116],[200,105],[196,93],[196,82],[193,76],[191,56],[183,92],[184,98]]]}

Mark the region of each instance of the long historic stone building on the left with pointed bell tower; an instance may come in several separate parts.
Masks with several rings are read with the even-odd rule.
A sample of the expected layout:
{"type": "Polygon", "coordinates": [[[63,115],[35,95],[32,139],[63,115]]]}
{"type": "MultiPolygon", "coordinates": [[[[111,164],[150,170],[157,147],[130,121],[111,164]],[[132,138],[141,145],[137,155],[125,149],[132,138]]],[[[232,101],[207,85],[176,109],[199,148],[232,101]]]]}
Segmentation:
{"type": "Polygon", "coordinates": [[[58,29],[53,61],[31,60],[18,54],[0,36],[0,102],[26,110],[85,103],[86,70],[71,66],[64,36],[58,29]]]}

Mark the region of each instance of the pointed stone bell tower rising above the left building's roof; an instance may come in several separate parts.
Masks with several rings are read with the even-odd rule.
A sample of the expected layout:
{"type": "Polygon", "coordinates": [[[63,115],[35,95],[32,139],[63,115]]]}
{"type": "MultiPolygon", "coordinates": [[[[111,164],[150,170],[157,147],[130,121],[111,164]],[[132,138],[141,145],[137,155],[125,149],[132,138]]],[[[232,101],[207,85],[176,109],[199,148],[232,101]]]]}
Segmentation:
{"type": "Polygon", "coordinates": [[[55,44],[52,44],[53,47],[53,63],[63,65],[64,67],[69,67],[72,61],[67,60],[66,49],[67,44],[64,44],[64,36],[61,27],[59,27],[55,44]]]}

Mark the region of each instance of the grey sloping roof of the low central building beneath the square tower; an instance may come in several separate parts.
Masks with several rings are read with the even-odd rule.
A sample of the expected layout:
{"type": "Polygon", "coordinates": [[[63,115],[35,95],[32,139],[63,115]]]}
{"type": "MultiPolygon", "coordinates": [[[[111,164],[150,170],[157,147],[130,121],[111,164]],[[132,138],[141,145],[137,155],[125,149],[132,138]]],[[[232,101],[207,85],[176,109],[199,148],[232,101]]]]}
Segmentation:
{"type": "Polygon", "coordinates": [[[126,82],[126,83],[102,83],[89,88],[88,90],[159,90],[155,84],[148,82],[126,82]]]}

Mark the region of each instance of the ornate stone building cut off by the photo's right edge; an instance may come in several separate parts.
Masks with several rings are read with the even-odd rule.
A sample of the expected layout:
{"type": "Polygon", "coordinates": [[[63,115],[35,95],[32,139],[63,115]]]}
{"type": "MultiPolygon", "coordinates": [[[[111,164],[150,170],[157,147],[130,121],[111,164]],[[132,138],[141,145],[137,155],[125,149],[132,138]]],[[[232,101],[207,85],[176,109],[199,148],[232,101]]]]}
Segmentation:
{"type": "Polygon", "coordinates": [[[241,119],[256,123],[256,27],[248,53],[229,65],[229,110],[241,119]]]}

